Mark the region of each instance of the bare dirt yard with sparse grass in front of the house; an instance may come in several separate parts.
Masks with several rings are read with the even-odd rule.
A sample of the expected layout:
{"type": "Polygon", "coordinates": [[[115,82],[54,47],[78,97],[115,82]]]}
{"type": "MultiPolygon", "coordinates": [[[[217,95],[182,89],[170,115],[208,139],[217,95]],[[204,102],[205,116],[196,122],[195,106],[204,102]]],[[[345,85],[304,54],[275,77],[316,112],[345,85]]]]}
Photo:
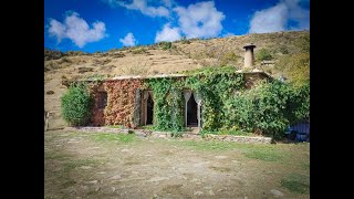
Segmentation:
{"type": "Polygon", "coordinates": [[[44,134],[45,198],[310,198],[285,188],[289,175],[310,180],[310,144],[44,134]]]}

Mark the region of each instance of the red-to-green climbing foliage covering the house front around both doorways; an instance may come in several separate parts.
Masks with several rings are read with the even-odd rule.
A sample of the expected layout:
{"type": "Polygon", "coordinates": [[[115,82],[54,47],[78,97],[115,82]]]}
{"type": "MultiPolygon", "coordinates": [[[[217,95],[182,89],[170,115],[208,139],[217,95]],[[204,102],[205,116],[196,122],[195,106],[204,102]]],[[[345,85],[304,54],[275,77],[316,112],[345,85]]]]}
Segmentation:
{"type": "Polygon", "coordinates": [[[153,90],[154,129],[179,136],[185,130],[184,90],[202,97],[202,132],[244,130],[279,137],[285,127],[310,118],[310,84],[302,86],[275,80],[259,81],[246,90],[244,74],[235,69],[207,67],[188,76],[122,80],[104,83],[108,103],[106,125],[133,124],[136,90],[153,90]]]}

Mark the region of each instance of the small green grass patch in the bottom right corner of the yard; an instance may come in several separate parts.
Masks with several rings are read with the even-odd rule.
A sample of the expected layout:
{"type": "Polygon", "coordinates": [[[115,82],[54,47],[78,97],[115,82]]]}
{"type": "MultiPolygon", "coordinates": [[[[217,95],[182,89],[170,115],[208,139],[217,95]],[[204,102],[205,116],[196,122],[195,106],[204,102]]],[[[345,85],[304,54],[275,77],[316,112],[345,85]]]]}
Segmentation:
{"type": "Polygon", "coordinates": [[[300,174],[290,174],[280,181],[281,186],[296,193],[310,192],[310,177],[300,174]]]}

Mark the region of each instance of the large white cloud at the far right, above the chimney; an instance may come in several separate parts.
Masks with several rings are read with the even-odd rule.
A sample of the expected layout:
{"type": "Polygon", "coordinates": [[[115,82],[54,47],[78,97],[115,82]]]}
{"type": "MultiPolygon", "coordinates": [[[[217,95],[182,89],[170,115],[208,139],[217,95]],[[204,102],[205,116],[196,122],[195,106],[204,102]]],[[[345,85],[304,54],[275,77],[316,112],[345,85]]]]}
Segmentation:
{"type": "Polygon", "coordinates": [[[300,0],[282,0],[274,7],[257,11],[250,21],[250,33],[266,33],[310,28],[310,11],[299,6],[300,0]],[[298,23],[288,27],[289,21],[298,23]]]}

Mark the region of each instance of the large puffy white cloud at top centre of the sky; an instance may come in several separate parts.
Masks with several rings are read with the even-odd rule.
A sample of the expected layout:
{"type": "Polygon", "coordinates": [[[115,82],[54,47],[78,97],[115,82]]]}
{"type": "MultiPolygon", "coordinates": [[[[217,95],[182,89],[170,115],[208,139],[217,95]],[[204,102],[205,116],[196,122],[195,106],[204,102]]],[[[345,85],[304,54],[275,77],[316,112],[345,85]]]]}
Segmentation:
{"type": "Polygon", "coordinates": [[[187,38],[217,36],[221,30],[222,12],[215,8],[214,1],[197,2],[188,8],[176,7],[180,30],[187,38]]]}

